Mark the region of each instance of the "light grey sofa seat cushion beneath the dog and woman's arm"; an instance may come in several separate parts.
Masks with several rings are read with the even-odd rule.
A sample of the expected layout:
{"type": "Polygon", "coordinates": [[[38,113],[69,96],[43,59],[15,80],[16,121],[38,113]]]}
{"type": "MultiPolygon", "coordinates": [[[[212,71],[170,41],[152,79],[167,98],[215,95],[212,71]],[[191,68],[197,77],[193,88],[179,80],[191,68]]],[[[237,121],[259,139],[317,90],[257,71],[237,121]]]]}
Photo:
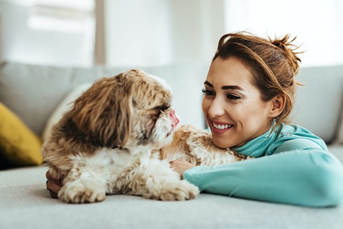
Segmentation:
{"type": "Polygon", "coordinates": [[[303,207],[201,193],[191,201],[112,195],[96,204],[50,198],[45,173],[0,171],[1,229],[342,229],[343,204],[303,207]]]}

